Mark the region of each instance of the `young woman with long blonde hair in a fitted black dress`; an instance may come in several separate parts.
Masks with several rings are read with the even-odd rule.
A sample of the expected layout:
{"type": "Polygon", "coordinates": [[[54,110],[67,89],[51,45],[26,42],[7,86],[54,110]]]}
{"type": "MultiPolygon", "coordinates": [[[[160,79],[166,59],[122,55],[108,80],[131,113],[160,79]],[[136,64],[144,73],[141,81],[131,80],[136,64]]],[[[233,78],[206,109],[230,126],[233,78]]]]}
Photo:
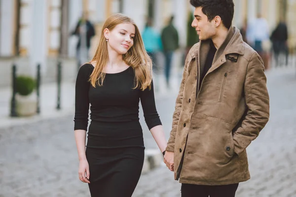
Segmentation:
{"type": "Polygon", "coordinates": [[[155,108],[152,63],[134,21],[112,15],[94,58],[80,67],[75,87],[79,179],[92,197],[131,197],[144,163],[139,101],[159,149],[166,140],[155,108]],[[90,107],[91,124],[85,150],[90,107]]]}

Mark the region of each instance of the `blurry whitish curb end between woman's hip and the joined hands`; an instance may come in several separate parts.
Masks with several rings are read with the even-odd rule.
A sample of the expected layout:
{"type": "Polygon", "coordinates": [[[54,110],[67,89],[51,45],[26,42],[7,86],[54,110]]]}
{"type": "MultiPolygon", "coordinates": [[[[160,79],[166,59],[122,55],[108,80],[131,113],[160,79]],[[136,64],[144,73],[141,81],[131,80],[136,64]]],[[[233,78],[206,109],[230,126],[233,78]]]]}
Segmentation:
{"type": "Polygon", "coordinates": [[[163,156],[159,149],[146,149],[142,173],[159,167],[163,163],[163,156]]]}

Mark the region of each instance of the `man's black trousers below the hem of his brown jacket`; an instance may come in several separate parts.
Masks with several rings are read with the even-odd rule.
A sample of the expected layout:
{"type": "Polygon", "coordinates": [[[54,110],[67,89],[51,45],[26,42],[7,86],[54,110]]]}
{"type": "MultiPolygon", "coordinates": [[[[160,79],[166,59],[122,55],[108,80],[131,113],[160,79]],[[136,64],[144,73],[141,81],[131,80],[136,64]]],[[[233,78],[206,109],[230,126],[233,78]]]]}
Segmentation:
{"type": "Polygon", "coordinates": [[[231,185],[192,185],[181,186],[182,197],[235,197],[237,184],[231,185]]]}

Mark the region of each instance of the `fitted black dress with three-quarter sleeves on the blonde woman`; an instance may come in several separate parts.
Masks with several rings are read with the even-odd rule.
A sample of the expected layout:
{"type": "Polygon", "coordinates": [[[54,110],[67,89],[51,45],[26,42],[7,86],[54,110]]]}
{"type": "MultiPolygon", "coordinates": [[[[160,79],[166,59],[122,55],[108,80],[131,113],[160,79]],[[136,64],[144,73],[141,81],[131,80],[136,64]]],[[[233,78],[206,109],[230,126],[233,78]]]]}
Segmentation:
{"type": "Polygon", "coordinates": [[[75,86],[74,130],[87,131],[86,158],[92,197],[131,197],[144,163],[144,140],[139,122],[139,101],[148,129],[161,125],[151,90],[134,88],[134,70],[109,74],[103,86],[92,87],[94,67],[80,67],[75,86]]]}

